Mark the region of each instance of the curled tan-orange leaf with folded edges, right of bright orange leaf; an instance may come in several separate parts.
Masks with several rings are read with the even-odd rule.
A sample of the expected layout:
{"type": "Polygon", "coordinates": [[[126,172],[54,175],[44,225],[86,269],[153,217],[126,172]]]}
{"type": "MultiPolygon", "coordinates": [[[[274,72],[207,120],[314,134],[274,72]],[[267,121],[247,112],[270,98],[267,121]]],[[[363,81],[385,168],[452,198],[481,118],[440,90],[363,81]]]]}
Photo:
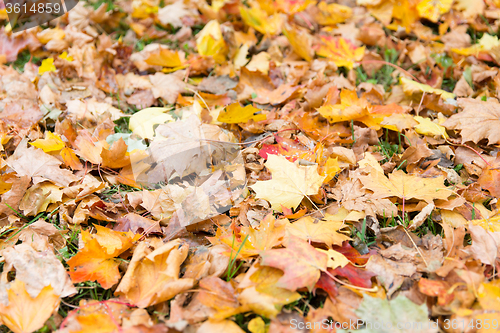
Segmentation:
{"type": "Polygon", "coordinates": [[[115,294],[145,308],[192,288],[193,279],[179,278],[180,265],[187,257],[188,248],[179,239],[154,251],[146,243],[139,243],[115,294]]]}

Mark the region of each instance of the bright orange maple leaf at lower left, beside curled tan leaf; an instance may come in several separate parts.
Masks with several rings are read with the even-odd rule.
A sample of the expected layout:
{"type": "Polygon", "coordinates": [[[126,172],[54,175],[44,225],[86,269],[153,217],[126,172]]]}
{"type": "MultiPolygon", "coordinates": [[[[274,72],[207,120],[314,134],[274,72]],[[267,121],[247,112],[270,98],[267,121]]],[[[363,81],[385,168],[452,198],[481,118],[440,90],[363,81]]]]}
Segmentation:
{"type": "Polygon", "coordinates": [[[83,249],[67,261],[73,282],[96,280],[104,289],[109,289],[120,280],[118,255],[132,247],[140,235],[131,232],[116,232],[99,225],[95,235],[83,230],[83,249]]]}

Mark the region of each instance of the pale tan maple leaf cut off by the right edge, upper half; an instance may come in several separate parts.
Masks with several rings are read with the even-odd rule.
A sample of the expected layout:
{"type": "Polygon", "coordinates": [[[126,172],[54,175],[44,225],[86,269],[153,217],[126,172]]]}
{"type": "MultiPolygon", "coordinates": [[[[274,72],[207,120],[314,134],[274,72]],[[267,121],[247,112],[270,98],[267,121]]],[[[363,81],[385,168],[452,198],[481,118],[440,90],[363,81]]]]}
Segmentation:
{"type": "Polygon", "coordinates": [[[458,106],[463,110],[443,123],[448,129],[459,129],[462,141],[478,143],[488,139],[490,144],[500,143],[500,103],[495,99],[486,102],[459,98],[458,106]]]}

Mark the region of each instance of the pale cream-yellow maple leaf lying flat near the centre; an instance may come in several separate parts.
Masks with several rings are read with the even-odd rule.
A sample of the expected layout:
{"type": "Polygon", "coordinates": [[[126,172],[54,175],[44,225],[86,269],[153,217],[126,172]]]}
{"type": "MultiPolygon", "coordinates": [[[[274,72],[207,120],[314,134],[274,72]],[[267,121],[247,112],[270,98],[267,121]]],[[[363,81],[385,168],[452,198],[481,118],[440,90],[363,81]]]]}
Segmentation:
{"type": "Polygon", "coordinates": [[[258,181],[250,186],[257,198],[266,199],[276,211],[281,205],[297,208],[304,196],[315,195],[325,179],[318,174],[318,166],[301,166],[292,163],[284,156],[269,155],[265,163],[271,171],[272,179],[258,181]]]}

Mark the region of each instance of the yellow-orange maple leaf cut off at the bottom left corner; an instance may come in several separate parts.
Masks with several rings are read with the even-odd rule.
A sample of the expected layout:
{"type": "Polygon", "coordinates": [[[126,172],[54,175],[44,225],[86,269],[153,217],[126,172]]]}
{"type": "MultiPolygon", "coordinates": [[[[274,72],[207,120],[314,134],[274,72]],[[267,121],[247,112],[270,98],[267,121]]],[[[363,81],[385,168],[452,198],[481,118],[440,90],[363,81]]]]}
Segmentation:
{"type": "Polygon", "coordinates": [[[18,279],[10,283],[7,295],[9,304],[0,303],[0,319],[14,333],[34,332],[42,328],[60,302],[52,286],[46,286],[32,298],[24,282],[18,279]]]}

